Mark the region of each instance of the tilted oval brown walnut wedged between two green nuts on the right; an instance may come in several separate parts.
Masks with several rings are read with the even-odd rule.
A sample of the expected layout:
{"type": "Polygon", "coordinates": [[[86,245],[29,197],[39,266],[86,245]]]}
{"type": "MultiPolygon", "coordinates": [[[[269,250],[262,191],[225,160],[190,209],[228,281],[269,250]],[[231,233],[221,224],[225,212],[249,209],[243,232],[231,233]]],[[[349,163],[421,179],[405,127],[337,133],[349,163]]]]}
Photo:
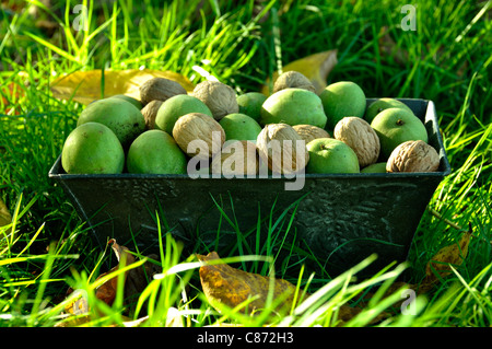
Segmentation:
{"type": "Polygon", "coordinates": [[[333,136],[352,148],[361,168],[377,161],[380,151],[379,137],[366,120],[347,116],[337,123],[333,136]]]}

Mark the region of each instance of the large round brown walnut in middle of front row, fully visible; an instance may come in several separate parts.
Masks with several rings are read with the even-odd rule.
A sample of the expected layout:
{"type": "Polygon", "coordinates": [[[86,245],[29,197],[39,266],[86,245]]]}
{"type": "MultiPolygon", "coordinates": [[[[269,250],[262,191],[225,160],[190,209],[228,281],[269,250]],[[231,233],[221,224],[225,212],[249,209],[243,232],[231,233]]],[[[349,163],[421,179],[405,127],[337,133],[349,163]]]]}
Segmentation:
{"type": "Polygon", "coordinates": [[[258,135],[256,147],[261,160],[274,173],[298,173],[309,161],[306,142],[286,124],[266,125],[258,135]]]}

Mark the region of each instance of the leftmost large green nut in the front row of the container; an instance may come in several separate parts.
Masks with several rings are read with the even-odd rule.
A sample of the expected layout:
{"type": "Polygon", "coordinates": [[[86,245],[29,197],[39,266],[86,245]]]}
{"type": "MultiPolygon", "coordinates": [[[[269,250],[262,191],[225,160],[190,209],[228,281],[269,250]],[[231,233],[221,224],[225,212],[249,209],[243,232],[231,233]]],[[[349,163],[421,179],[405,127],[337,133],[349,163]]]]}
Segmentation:
{"type": "Polygon", "coordinates": [[[117,174],[124,170],[125,151],[107,126],[86,123],[67,137],[61,166],[68,174],[117,174]]]}

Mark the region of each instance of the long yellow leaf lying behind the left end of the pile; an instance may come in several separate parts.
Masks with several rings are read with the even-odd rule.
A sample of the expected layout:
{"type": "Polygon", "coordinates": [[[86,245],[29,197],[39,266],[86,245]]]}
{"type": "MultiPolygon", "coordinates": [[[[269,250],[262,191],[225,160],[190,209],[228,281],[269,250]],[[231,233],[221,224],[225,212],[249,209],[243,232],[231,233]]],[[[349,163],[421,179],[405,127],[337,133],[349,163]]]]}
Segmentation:
{"type": "MultiPolygon", "coordinates": [[[[59,100],[77,101],[90,104],[102,97],[102,70],[77,71],[63,75],[51,83],[51,92],[59,100]]],[[[152,78],[165,78],[178,82],[187,92],[191,92],[195,85],[184,75],[174,71],[160,70],[105,70],[104,71],[104,97],[116,94],[126,94],[140,100],[139,88],[152,78]]]]}

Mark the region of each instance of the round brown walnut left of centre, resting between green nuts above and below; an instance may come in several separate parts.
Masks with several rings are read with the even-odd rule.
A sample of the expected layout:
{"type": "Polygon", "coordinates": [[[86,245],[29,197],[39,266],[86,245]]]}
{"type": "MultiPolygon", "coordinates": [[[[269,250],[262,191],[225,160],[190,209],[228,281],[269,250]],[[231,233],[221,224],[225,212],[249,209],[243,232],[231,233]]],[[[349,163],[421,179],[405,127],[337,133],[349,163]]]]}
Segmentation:
{"type": "Polygon", "coordinates": [[[173,138],[189,156],[207,160],[221,151],[225,142],[225,131],[213,117],[190,113],[177,119],[173,128],[173,138]]]}

